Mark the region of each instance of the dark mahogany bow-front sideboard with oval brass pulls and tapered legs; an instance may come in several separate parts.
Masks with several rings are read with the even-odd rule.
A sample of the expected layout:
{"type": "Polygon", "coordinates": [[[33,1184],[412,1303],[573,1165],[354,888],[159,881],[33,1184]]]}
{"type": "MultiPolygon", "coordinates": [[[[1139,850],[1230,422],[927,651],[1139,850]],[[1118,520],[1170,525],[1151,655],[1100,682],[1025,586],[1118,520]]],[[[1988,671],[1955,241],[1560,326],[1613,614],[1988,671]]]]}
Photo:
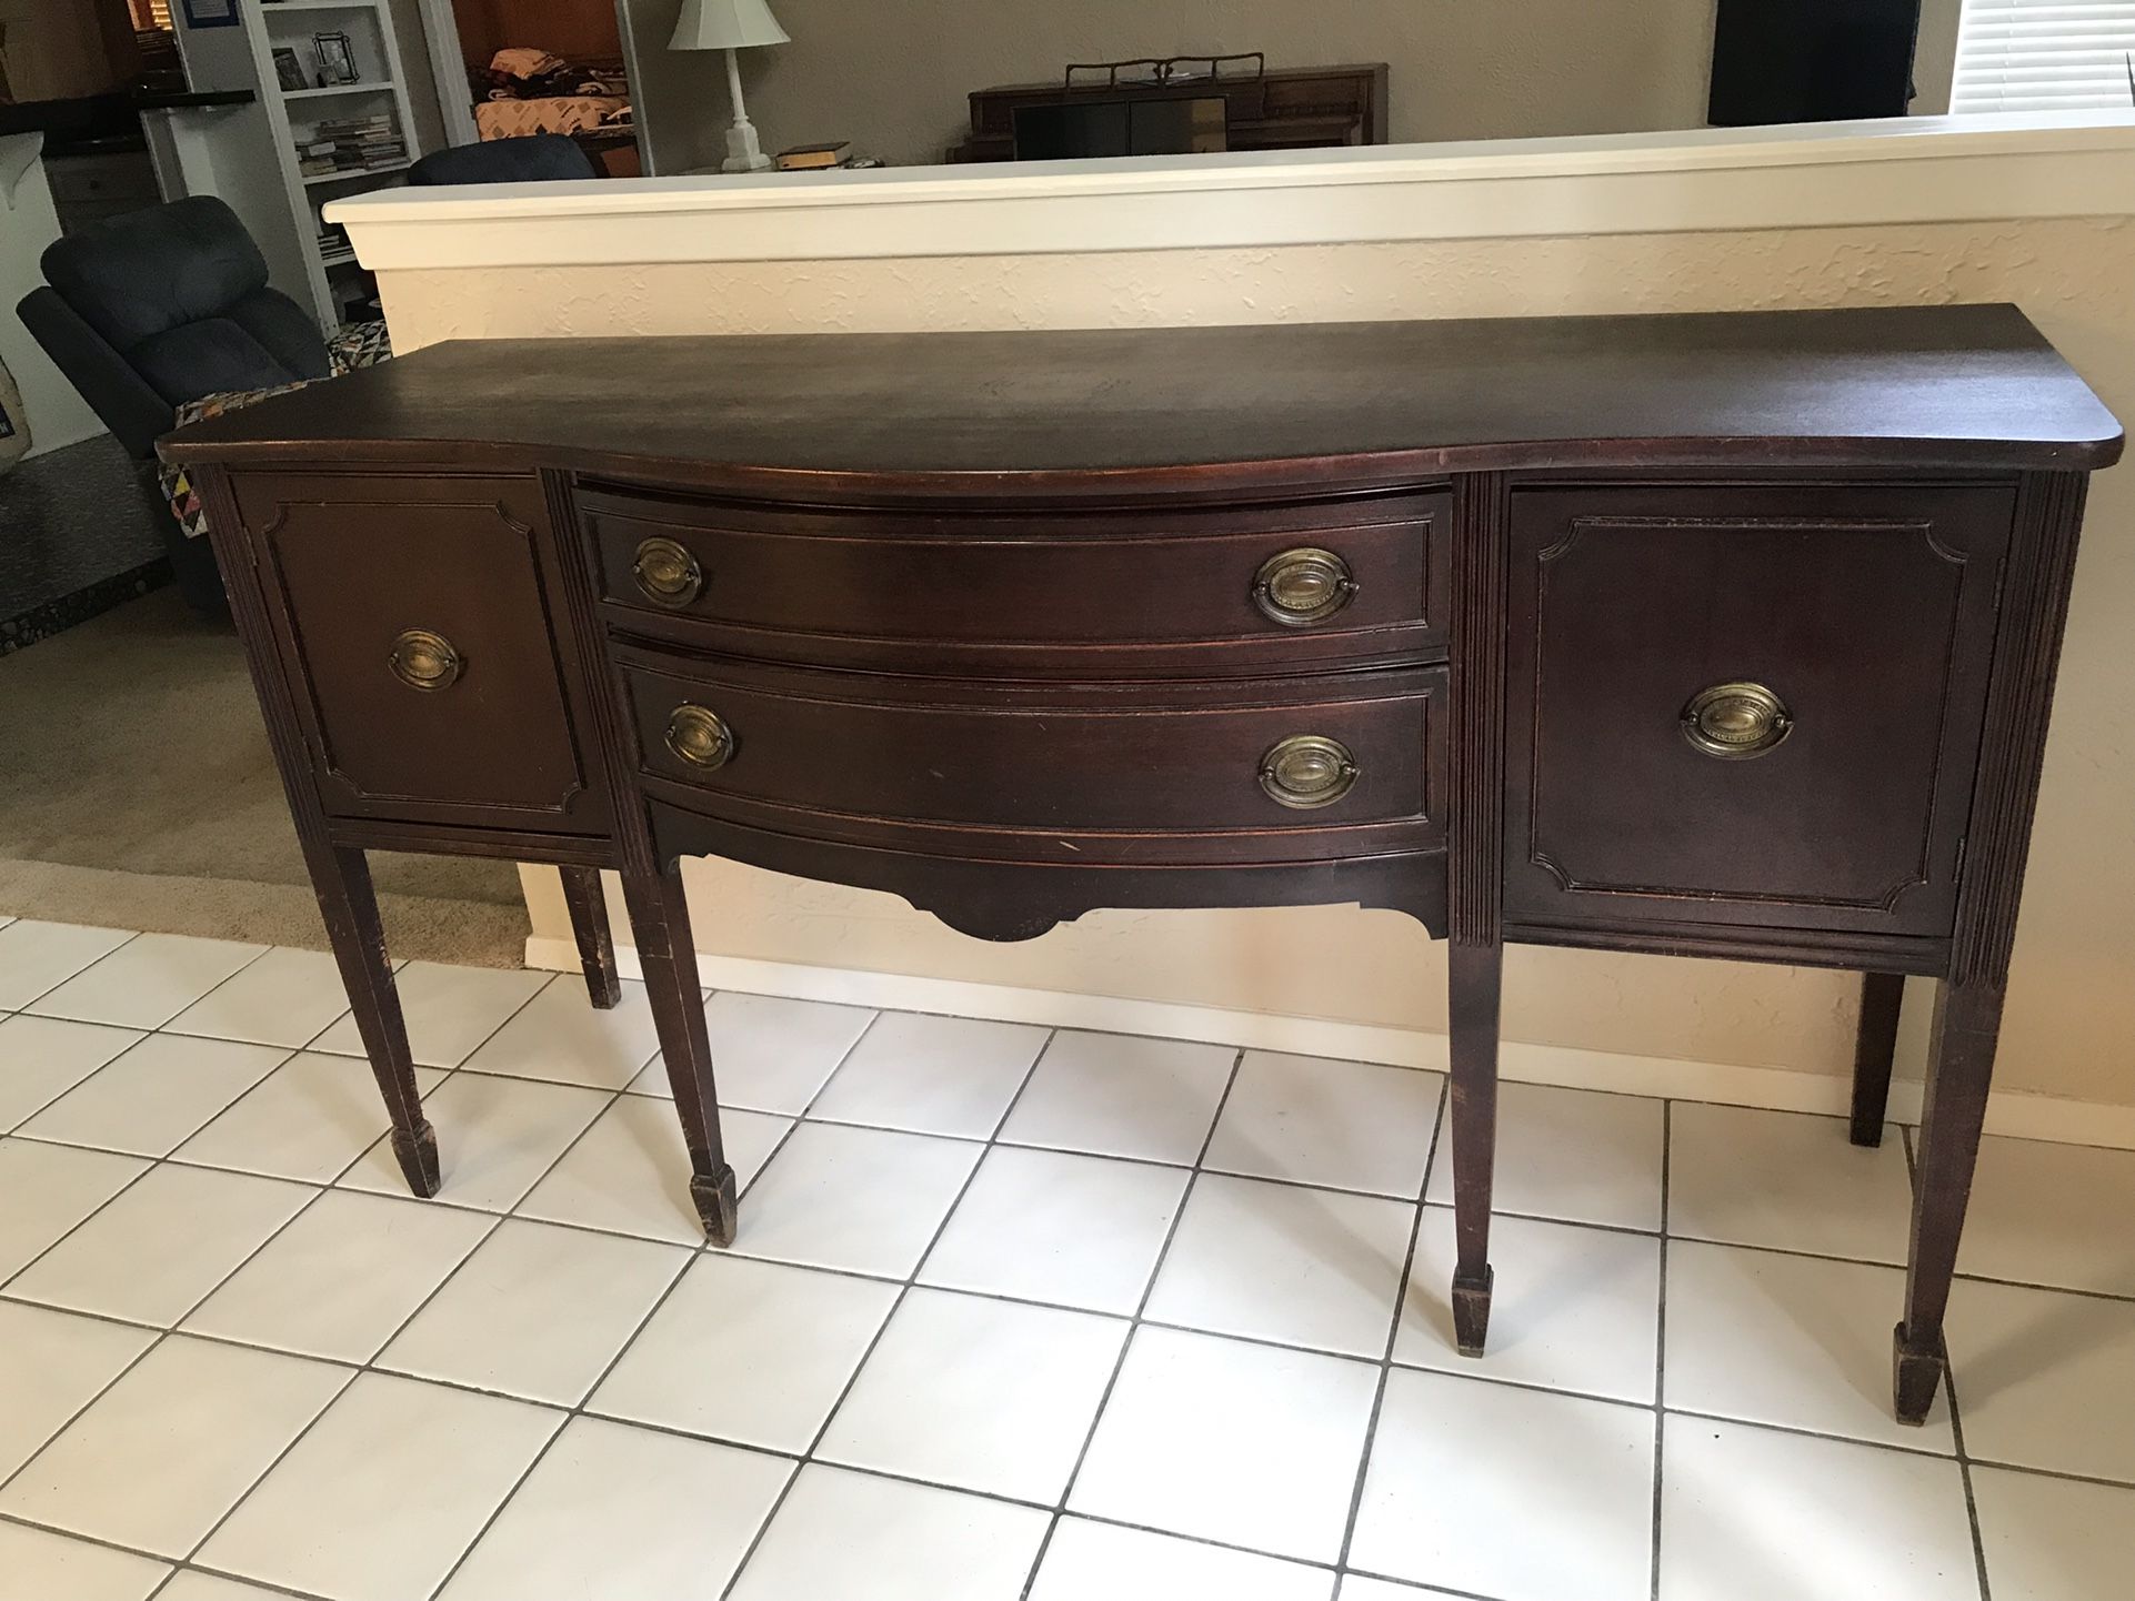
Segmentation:
{"type": "Polygon", "coordinates": [[[410,1185],[363,852],[619,869],[737,1227],[679,858],[989,939],[1362,903],[1450,939],[1458,1343],[1507,941],[1941,980],[1896,1409],[1926,1415],[2086,474],[2007,305],[444,344],[173,435],[410,1185]]]}

